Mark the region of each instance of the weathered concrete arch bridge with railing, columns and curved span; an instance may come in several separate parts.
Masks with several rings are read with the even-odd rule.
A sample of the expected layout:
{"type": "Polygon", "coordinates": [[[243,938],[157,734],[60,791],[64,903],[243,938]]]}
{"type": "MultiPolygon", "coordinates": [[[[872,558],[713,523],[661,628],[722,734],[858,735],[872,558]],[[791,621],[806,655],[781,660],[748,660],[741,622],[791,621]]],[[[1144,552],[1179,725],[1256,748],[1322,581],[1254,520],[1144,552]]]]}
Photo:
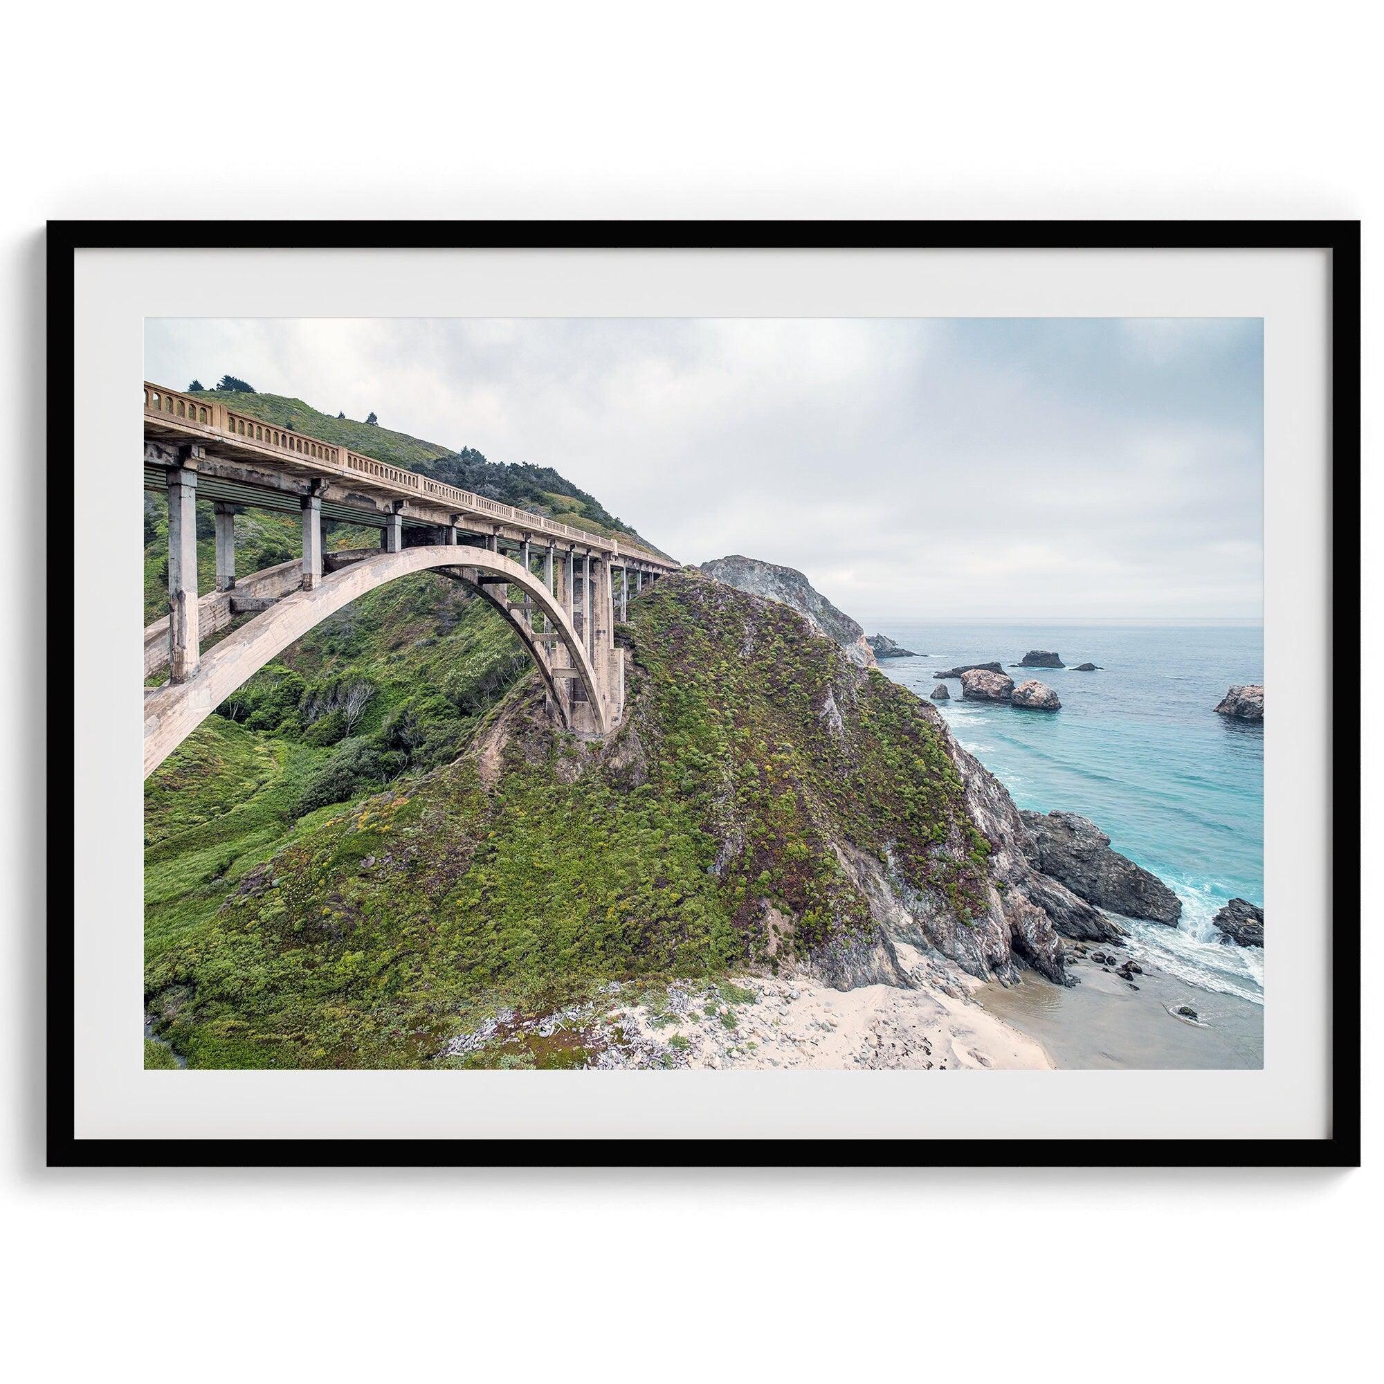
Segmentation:
{"type": "Polygon", "coordinates": [[[144,631],[144,774],[295,639],[367,591],[437,572],[493,605],[529,650],[552,714],[601,736],[624,711],[616,619],[677,563],[660,554],[390,466],[251,418],[219,401],[144,386],[144,486],[169,502],[169,614],[144,631]],[[216,590],[197,590],[197,501],[216,516],[216,590]],[[298,513],[303,554],[235,574],[234,516],[298,513]],[[379,529],[378,548],[325,554],[322,520],[379,529]],[[202,635],[251,614],[205,655],[202,635]]]}

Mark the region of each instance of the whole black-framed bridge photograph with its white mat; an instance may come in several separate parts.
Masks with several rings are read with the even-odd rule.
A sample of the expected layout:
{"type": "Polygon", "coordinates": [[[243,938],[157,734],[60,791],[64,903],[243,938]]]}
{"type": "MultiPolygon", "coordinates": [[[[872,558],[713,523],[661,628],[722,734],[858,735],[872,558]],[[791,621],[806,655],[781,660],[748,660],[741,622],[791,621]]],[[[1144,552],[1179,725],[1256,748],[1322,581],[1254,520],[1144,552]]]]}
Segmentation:
{"type": "Polygon", "coordinates": [[[50,1163],[1356,1164],[1359,410],[1356,223],[51,223],[50,1163]]]}

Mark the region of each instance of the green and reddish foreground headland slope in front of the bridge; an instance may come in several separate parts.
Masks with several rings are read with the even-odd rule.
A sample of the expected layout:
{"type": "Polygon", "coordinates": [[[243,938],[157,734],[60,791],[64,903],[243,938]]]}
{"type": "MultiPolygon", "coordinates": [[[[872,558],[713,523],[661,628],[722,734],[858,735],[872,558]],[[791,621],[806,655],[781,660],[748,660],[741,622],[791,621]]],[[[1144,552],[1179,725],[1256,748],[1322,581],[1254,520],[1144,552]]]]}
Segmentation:
{"type": "MultiPolygon", "coordinates": [[[[159,934],[147,972],[190,1064],[430,1064],[500,1003],[772,966],[770,909],[800,951],[868,923],[839,843],[893,851],[907,883],[965,916],[987,843],[915,698],[847,670],[786,608],[702,577],[639,598],[623,637],[630,714],[601,752],[516,689],[490,786],[466,754],[322,808],[271,862],[246,851],[219,875],[231,844],[201,828],[198,916],[159,934]]],[[[221,775],[262,782],[234,742],[221,775]]],[[[263,782],[256,822],[275,810],[280,781],[263,782]]]]}

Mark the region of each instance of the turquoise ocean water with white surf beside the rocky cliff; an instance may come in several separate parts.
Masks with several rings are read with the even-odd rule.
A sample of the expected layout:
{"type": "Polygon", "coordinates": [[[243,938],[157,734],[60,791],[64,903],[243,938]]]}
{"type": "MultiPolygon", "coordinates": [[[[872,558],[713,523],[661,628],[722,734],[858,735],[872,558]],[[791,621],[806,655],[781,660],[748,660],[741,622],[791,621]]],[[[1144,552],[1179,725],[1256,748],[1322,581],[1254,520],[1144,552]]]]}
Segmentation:
{"type": "Polygon", "coordinates": [[[1233,682],[1264,681],[1259,626],[941,624],[880,620],[920,657],[880,668],[919,696],[933,673],[999,660],[1016,682],[1037,677],[1055,713],[1005,703],[934,703],[955,736],[1021,808],[1091,818],[1114,850],[1182,900],[1176,929],[1129,922],[1133,949],[1201,990],[1264,1003],[1264,952],[1221,941],[1211,919],[1226,900],[1264,902],[1264,728],[1217,716],[1233,682]],[[1010,668],[1055,649],[1067,668],[1010,668]],[[1100,664],[1075,673],[1071,664],[1100,664]]]}

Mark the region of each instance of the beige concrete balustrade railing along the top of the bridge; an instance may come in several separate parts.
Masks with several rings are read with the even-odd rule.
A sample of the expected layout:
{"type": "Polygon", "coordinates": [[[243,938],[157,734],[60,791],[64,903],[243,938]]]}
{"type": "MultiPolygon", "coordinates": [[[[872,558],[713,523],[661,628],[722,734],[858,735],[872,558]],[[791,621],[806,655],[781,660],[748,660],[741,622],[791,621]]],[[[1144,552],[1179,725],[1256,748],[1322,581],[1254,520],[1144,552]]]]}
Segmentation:
{"type": "Polygon", "coordinates": [[[425,476],[421,472],[408,471],[404,466],[393,466],[388,461],[367,457],[358,451],[352,451],[349,447],[322,441],[320,437],[311,437],[291,428],[266,424],[260,418],[237,412],[217,400],[197,399],[176,389],[163,389],[161,385],[151,385],[148,381],[144,382],[144,417],[158,418],[161,422],[170,422],[174,426],[195,428],[227,437],[231,441],[244,441],[255,447],[266,447],[270,451],[281,451],[298,459],[307,459],[325,468],[335,468],[338,472],[368,476],[371,480],[381,482],[385,486],[426,495],[444,505],[455,507],[458,511],[475,509],[482,513],[494,515],[497,519],[508,519],[520,529],[531,529],[537,533],[547,533],[559,538],[573,538],[594,548],[609,548],[616,555],[639,558],[657,565],[668,563],[667,558],[660,558],[645,548],[637,545],[621,548],[617,538],[587,533],[585,529],[574,529],[572,525],[559,523],[556,519],[548,519],[545,515],[507,505],[501,500],[491,500],[489,495],[477,495],[469,490],[448,486],[444,480],[435,480],[432,476],[425,476]]]}

